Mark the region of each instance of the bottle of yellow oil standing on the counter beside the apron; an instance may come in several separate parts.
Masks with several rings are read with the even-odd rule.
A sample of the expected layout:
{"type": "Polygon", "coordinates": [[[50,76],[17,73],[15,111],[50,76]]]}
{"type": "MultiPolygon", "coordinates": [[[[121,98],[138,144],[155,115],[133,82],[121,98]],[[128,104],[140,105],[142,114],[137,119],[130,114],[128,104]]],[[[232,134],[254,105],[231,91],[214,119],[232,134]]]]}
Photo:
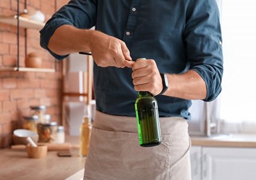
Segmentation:
{"type": "Polygon", "coordinates": [[[88,154],[91,132],[92,132],[91,108],[88,105],[87,112],[84,115],[82,124],[80,126],[80,151],[79,151],[79,154],[82,157],[85,157],[88,154]]]}

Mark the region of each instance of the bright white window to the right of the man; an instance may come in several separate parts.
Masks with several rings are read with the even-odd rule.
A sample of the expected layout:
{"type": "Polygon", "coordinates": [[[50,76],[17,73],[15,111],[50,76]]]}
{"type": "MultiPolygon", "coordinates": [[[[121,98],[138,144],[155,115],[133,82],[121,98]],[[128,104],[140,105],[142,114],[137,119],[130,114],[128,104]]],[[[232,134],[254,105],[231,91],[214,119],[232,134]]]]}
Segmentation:
{"type": "Polygon", "coordinates": [[[256,121],[256,11],[254,0],[222,2],[222,37],[224,77],[220,117],[227,123],[256,121]]]}

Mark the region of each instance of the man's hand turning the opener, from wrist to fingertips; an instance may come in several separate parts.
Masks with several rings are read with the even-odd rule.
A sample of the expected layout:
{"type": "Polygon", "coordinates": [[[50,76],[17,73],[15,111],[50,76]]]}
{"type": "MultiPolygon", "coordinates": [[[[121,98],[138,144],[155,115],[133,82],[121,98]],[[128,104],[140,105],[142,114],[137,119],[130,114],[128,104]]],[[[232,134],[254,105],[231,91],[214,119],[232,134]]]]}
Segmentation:
{"type": "Polygon", "coordinates": [[[124,41],[98,30],[87,30],[86,33],[90,39],[89,48],[98,66],[125,68],[125,60],[131,60],[124,41]]]}

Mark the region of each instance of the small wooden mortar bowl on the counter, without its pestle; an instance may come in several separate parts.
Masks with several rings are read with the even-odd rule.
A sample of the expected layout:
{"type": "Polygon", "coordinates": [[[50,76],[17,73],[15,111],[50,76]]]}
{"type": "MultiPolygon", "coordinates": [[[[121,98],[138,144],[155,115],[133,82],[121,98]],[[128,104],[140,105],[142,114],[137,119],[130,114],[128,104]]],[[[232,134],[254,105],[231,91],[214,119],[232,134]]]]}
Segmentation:
{"type": "Polygon", "coordinates": [[[44,158],[47,155],[47,145],[38,145],[37,147],[28,145],[26,152],[28,152],[29,158],[44,158]]]}

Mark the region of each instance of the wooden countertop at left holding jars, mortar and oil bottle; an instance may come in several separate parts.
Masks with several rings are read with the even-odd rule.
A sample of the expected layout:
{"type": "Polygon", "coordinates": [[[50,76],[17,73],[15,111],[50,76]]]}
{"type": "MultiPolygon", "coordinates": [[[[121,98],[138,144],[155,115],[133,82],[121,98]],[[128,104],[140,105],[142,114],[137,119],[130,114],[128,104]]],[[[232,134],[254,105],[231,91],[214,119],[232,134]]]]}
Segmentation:
{"type": "MultiPolygon", "coordinates": [[[[67,142],[78,144],[78,137],[67,142]]],[[[79,149],[71,149],[73,157],[58,157],[56,151],[48,151],[46,158],[28,158],[25,150],[0,150],[0,179],[64,180],[82,179],[85,157],[79,157],[79,149]]]]}

